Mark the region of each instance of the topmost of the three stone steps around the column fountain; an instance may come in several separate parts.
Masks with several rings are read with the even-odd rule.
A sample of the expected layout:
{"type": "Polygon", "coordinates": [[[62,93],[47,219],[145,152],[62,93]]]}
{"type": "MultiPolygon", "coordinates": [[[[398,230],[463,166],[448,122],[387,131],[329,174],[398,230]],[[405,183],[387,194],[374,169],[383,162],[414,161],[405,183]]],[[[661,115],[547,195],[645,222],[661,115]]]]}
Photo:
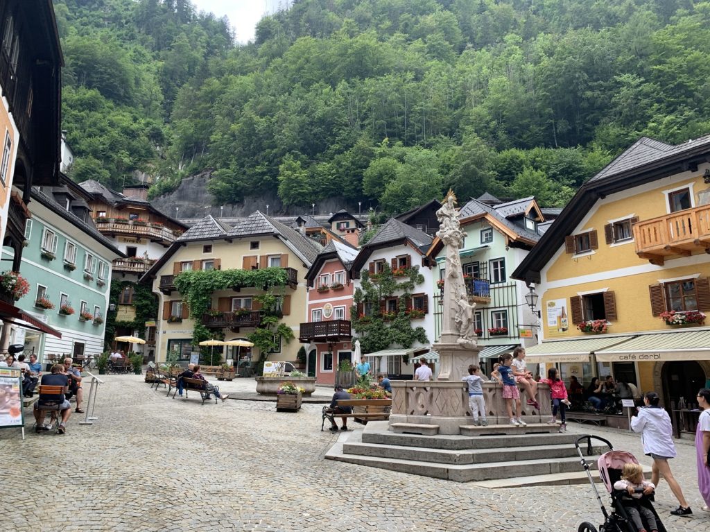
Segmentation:
{"type": "Polygon", "coordinates": [[[388,430],[387,421],[370,422],[362,433],[364,443],[376,443],[381,445],[405,445],[408,447],[427,447],[429,449],[491,449],[504,448],[508,445],[512,447],[524,447],[525,445],[562,445],[564,443],[572,445],[579,438],[578,434],[572,433],[550,433],[550,434],[526,434],[522,432],[512,435],[481,435],[481,436],[461,436],[461,435],[436,435],[425,436],[416,434],[396,434],[388,430]]]}

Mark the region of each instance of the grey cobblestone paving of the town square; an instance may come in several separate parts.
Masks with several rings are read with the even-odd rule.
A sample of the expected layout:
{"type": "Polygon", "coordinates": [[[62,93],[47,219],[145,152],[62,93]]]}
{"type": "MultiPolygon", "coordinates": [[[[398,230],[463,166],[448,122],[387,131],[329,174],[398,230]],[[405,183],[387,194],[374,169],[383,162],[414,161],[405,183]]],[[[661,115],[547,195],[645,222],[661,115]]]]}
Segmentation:
{"type": "MultiPolygon", "coordinates": [[[[18,430],[0,431],[3,530],[542,532],[601,521],[589,484],[493,490],[323,460],[346,434],[320,431],[320,405],[201,406],[166,398],[139,376],[105,380],[92,426],[75,414],[66,435],[29,431],[22,441],[18,430]]],[[[249,381],[225,391],[232,386],[246,393],[249,381]]],[[[650,463],[638,435],[571,430],[593,430],[650,463]]],[[[710,531],[694,447],[678,450],[672,469],[696,514],[669,516],[677,504],[665,483],[657,509],[669,531],[710,531]]]]}

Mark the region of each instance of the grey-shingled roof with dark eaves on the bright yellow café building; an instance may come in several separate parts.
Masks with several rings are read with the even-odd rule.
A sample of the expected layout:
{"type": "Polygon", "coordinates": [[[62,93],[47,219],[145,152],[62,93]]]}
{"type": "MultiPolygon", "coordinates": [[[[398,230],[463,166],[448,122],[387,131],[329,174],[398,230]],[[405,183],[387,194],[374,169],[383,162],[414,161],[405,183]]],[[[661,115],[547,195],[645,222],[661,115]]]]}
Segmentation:
{"type": "Polygon", "coordinates": [[[600,197],[680,172],[697,171],[698,165],[706,163],[709,156],[710,135],[677,146],[648,137],[638,139],[606,168],[581,185],[511,277],[528,284],[540,283],[540,272],[564,244],[564,237],[574,231],[600,197]]]}

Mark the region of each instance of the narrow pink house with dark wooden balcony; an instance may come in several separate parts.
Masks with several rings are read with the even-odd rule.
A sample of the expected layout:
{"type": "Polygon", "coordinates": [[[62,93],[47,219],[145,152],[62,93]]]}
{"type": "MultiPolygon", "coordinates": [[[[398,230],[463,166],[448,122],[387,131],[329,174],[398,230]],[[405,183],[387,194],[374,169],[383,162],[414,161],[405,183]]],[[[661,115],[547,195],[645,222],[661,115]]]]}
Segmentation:
{"type": "Polygon", "coordinates": [[[353,246],[332,239],[306,275],[307,315],[299,340],[308,344],[308,374],[315,369],[319,384],[334,384],[338,365],[352,357],[350,308],[355,288],[348,269],[356,255],[353,246]]]}

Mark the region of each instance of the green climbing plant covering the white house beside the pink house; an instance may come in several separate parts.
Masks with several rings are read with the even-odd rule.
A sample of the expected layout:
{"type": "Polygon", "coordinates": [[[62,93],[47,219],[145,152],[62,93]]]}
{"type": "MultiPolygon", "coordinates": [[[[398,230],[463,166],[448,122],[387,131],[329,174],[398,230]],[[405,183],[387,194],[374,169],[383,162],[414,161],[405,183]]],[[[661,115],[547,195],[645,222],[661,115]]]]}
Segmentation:
{"type": "Polygon", "coordinates": [[[350,315],[353,317],[353,330],[360,340],[363,353],[372,353],[388,349],[392,344],[402,347],[411,347],[414,342],[427,343],[427,333],[424,327],[413,327],[413,315],[410,309],[406,308],[405,300],[411,297],[415,286],[424,282],[424,276],[419,273],[419,267],[415,266],[395,276],[391,268],[386,264],[381,273],[369,273],[363,270],[360,273],[360,288],[357,288],[353,296],[355,305],[351,308],[350,315]],[[397,312],[388,315],[388,321],[383,316],[381,301],[391,297],[395,292],[403,292],[398,299],[397,312]],[[371,315],[358,313],[360,303],[370,303],[372,306],[371,315]]]}

